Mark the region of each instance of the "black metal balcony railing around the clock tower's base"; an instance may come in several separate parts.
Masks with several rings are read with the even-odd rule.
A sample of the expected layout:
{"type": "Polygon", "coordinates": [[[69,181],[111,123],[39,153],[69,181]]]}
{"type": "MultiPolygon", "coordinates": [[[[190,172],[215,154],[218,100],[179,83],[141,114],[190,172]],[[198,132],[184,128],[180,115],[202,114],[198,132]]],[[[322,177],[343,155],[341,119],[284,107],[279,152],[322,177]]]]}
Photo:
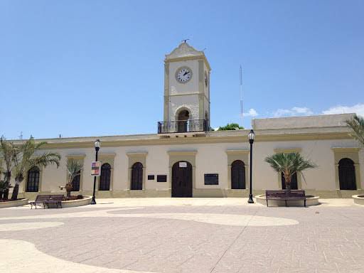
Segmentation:
{"type": "Polygon", "coordinates": [[[173,120],[158,122],[158,134],[196,133],[208,131],[205,119],[173,120]]]}

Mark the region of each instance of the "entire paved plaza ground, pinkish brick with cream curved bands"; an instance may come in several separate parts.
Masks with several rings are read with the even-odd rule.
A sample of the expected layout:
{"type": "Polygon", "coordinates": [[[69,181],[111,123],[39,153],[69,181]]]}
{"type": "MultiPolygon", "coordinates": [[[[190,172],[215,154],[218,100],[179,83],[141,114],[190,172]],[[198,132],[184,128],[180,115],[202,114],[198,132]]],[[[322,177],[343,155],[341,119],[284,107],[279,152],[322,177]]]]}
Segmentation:
{"type": "Polygon", "coordinates": [[[364,206],[98,199],[0,210],[0,272],[364,272],[364,206]]]}

